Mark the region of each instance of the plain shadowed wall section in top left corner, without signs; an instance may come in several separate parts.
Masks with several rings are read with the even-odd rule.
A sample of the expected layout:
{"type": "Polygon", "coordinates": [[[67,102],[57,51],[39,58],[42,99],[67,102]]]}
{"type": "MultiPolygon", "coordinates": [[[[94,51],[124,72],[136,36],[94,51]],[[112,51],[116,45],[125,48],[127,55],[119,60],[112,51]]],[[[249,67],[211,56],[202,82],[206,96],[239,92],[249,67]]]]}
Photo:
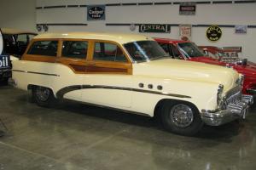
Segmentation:
{"type": "Polygon", "coordinates": [[[0,27],[36,31],[36,0],[0,0],[0,27]]]}

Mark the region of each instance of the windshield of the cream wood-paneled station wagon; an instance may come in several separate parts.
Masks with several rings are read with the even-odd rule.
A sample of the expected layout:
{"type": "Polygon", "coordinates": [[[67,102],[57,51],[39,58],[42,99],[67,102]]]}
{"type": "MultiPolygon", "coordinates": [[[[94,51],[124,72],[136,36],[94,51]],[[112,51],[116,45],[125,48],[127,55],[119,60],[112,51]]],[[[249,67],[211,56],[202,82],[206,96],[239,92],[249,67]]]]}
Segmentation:
{"type": "Polygon", "coordinates": [[[155,41],[129,42],[124,46],[131,58],[138,62],[169,57],[155,41]]]}

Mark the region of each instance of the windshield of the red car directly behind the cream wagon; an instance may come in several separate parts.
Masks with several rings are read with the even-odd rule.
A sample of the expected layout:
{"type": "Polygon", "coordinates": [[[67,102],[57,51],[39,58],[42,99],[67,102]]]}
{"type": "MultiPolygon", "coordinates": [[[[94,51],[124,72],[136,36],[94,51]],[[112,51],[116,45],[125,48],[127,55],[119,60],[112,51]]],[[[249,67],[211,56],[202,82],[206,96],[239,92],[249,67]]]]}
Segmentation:
{"type": "Polygon", "coordinates": [[[201,57],[205,55],[193,42],[182,42],[178,43],[177,46],[187,58],[201,57]]]}

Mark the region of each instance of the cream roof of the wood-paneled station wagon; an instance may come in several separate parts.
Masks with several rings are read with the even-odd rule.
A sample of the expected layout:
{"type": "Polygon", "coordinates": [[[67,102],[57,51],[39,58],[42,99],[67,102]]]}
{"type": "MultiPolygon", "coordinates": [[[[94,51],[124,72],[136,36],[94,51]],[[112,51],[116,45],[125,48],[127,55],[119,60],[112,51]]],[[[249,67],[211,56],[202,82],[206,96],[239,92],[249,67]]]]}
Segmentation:
{"type": "Polygon", "coordinates": [[[76,39],[98,39],[105,41],[119,42],[121,44],[135,41],[154,40],[142,34],[125,34],[112,32],[64,32],[64,33],[44,33],[34,39],[41,38],[76,38],[76,39]]]}

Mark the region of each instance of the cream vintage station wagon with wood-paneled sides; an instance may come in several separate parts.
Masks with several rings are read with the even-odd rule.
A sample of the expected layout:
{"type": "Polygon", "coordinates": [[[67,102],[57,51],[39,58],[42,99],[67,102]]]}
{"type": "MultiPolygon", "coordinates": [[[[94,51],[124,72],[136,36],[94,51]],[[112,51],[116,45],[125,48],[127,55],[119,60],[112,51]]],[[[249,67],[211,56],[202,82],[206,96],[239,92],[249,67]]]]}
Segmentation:
{"type": "Polygon", "coordinates": [[[250,95],[231,68],[170,59],[152,38],[135,34],[47,33],[13,62],[13,84],[40,106],[56,99],[160,116],[173,133],[245,118],[250,95]]]}

